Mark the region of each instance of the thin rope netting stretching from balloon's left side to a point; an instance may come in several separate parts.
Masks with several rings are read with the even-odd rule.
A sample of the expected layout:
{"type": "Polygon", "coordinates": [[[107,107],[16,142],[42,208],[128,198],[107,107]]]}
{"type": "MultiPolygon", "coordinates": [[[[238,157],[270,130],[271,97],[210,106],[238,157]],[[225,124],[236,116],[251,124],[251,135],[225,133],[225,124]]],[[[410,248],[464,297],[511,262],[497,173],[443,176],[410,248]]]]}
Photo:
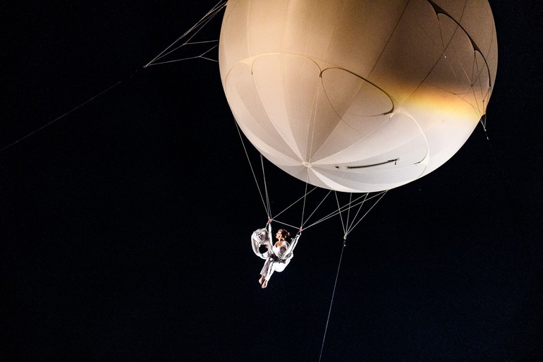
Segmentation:
{"type": "Polygon", "coordinates": [[[195,25],[193,25],[190,29],[185,31],[183,33],[183,35],[181,35],[181,37],[178,37],[173,43],[171,43],[168,47],[166,47],[166,49],[164,49],[162,52],[160,52],[160,54],[155,56],[152,59],[152,61],[145,64],[144,68],[147,68],[147,66],[156,66],[156,65],[159,65],[159,64],[168,64],[168,63],[174,63],[176,61],[186,61],[186,60],[189,60],[189,59],[198,59],[198,58],[218,62],[218,60],[216,60],[216,59],[212,59],[212,58],[207,57],[207,54],[209,54],[209,52],[211,52],[213,49],[215,49],[218,46],[218,44],[215,44],[213,47],[207,49],[205,52],[203,52],[202,54],[197,55],[197,56],[188,56],[188,57],[185,57],[185,58],[182,58],[182,59],[174,59],[174,60],[171,60],[171,61],[158,61],[158,60],[162,59],[165,56],[168,56],[169,54],[175,52],[176,50],[181,49],[182,47],[185,47],[185,46],[188,46],[188,45],[218,43],[219,40],[205,40],[205,41],[200,41],[200,42],[191,42],[191,40],[193,40],[193,38],[198,34],[198,32],[200,32],[200,30],[205,28],[205,26],[214,18],[214,16],[216,16],[216,14],[218,14],[224,7],[226,7],[227,2],[228,1],[219,1],[219,3],[217,3],[215,6],[213,6],[211,8],[211,10],[209,10],[205,14],[205,16],[203,16],[200,20],[197,21],[197,23],[195,23],[195,25]],[[188,37],[189,35],[190,35],[190,37],[188,37]],[[185,39],[185,37],[188,37],[188,40],[183,42],[181,45],[178,45],[177,47],[173,47],[178,42],[181,42],[181,40],[185,39]]]}

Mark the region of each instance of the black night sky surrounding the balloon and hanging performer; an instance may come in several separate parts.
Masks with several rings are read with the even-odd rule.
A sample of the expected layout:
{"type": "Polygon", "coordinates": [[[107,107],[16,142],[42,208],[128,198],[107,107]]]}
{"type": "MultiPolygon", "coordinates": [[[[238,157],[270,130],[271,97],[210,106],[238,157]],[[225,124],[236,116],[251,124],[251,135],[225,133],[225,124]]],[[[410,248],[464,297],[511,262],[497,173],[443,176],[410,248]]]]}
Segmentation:
{"type": "MultiPolygon", "coordinates": [[[[543,5],[490,2],[487,133],[345,248],[338,217],[304,231],[261,289],[267,215],[218,63],[143,68],[215,4],[4,9],[0,361],[543,361],[543,5]]],[[[266,171],[274,210],[305,187],[266,171]]]]}

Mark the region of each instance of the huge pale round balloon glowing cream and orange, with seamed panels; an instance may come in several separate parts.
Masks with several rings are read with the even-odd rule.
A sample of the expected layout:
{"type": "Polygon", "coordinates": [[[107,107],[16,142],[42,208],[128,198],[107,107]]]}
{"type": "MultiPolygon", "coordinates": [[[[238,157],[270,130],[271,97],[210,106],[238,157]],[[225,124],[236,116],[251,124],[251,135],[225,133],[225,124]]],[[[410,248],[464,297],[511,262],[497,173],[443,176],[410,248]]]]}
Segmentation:
{"type": "Polygon", "coordinates": [[[484,114],[498,62],[487,0],[230,0],[221,80],[264,157],[371,192],[437,169],[484,114]]]}

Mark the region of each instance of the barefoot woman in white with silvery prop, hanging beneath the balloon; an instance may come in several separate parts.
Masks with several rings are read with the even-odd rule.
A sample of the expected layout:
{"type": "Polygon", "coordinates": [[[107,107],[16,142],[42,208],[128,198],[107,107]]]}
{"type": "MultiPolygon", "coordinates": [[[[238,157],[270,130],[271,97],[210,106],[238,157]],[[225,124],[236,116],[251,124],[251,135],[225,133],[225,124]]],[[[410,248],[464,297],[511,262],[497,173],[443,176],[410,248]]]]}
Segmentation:
{"type": "Polygon", "coordinates": [[[257,229],[252,233],[252,250],[257,256],[266,260],[260,271],[260,279],[258,279],[262,289],[268,286],[271,274],[274,272],[282,272],[285,270],[288,263],[290,263],[294,255],[293,249],[298,242],[300,234],[296,235],[291,243],[288,243],[287,239],[290,235],[291,234],[286,231],[286,229],[279,229],[275,234],[277,241],[271,245],[270,224],[267,225],[267,228],[257,229]],[[260,251],[261,247],[265,249],[264,252],[260,251]]]}

